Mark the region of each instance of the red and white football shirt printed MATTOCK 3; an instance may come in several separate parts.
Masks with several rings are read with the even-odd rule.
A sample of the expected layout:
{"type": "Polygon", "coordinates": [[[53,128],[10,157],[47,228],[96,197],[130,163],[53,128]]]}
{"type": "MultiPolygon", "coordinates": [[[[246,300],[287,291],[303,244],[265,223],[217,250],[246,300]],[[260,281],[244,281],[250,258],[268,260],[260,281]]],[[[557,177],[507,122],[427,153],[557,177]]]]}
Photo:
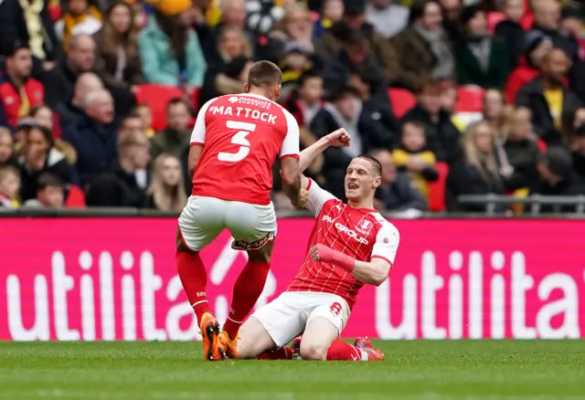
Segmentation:
{"type": "Polygon", "coordinates": [[[279,155],[299,158],[299,125],[264,97],[220,96],[199,111],[191,145],[203,146],[192,195],[269,205],[272,164],[279,155]]]}

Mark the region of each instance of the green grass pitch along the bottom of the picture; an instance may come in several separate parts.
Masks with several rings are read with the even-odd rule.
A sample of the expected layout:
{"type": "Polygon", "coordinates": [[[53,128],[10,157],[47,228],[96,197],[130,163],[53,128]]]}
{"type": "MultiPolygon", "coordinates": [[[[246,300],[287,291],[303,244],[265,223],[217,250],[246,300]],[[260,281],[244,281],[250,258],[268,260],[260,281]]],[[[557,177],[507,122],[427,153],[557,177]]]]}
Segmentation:
{"type": "Polygon", "coordinates": [[[204,363],[199,342],[0,342],[0,399],[585,399],[585,341],[375,342],[378,363],[204,363]]]}

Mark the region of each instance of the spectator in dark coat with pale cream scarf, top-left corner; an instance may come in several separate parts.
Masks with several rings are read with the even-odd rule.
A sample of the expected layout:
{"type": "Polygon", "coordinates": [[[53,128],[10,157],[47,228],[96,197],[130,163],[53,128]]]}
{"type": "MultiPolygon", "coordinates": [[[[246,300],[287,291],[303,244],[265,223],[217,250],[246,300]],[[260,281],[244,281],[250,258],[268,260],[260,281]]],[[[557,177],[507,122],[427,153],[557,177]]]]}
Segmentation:
{"type": "Polygon", "coordinates": [[[50,0],[3,0],[0,2],[0,56],[8,56],[13,43],[24,43],[33,54],[33,74],[55,66],[60,56],[58,38],[48,15],[50,0]]]}

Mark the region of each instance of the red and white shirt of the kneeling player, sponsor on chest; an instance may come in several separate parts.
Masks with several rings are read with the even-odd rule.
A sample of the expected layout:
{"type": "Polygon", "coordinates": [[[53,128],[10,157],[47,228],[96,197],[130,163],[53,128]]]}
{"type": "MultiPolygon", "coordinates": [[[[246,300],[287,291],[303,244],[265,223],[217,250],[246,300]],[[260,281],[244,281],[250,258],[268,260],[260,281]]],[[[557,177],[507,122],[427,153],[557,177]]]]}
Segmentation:
{"type": "Polygon", "coordinates": [[[352,308],[357,291],[364,283],[344,268],[313,261],[309,249],[321,244],[359,261],[383,258],[392,265],[399,248],[399,231],[378,211],[346,205],[312,180],[309,181],[308,190],[306,207],[314,214],[316,221],[309,237],[303,267],[287,290],[333,293],[345,299],[352,308]]]}

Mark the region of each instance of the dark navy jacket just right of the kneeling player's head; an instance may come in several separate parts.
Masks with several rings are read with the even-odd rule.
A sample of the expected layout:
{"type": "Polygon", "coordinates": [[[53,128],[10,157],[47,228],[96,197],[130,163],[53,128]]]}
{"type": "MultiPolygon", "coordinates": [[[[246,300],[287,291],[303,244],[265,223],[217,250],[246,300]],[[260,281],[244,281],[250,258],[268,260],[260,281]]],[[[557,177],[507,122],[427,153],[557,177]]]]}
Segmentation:
{"type": "Polygon", "coordinates": [[[404,173],[398,173],[392,184],[380,185],[375,197],[384,202],[386,211],[405,211],[410,208],[427,210],[424,196],[410,184],[409,176],[404,173]]]}

